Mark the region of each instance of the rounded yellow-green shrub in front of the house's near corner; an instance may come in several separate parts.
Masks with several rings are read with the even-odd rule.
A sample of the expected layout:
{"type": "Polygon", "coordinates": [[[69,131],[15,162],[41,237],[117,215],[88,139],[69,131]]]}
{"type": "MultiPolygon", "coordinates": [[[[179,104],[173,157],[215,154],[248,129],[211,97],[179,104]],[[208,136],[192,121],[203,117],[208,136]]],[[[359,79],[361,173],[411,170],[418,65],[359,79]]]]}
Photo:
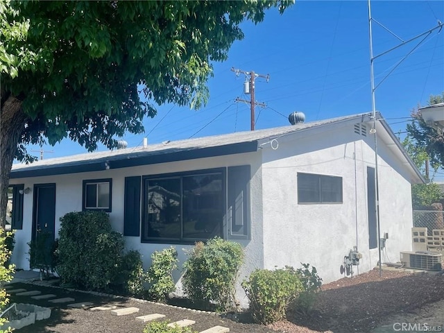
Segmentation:
{"type": "Polygon", "coordinates": [[[289,303],[303,290],[302,282],[292,267],[269,271],[257,269],[242,282],[250,311],[258,323],[269,324],[285,318],[289,303]]]}

